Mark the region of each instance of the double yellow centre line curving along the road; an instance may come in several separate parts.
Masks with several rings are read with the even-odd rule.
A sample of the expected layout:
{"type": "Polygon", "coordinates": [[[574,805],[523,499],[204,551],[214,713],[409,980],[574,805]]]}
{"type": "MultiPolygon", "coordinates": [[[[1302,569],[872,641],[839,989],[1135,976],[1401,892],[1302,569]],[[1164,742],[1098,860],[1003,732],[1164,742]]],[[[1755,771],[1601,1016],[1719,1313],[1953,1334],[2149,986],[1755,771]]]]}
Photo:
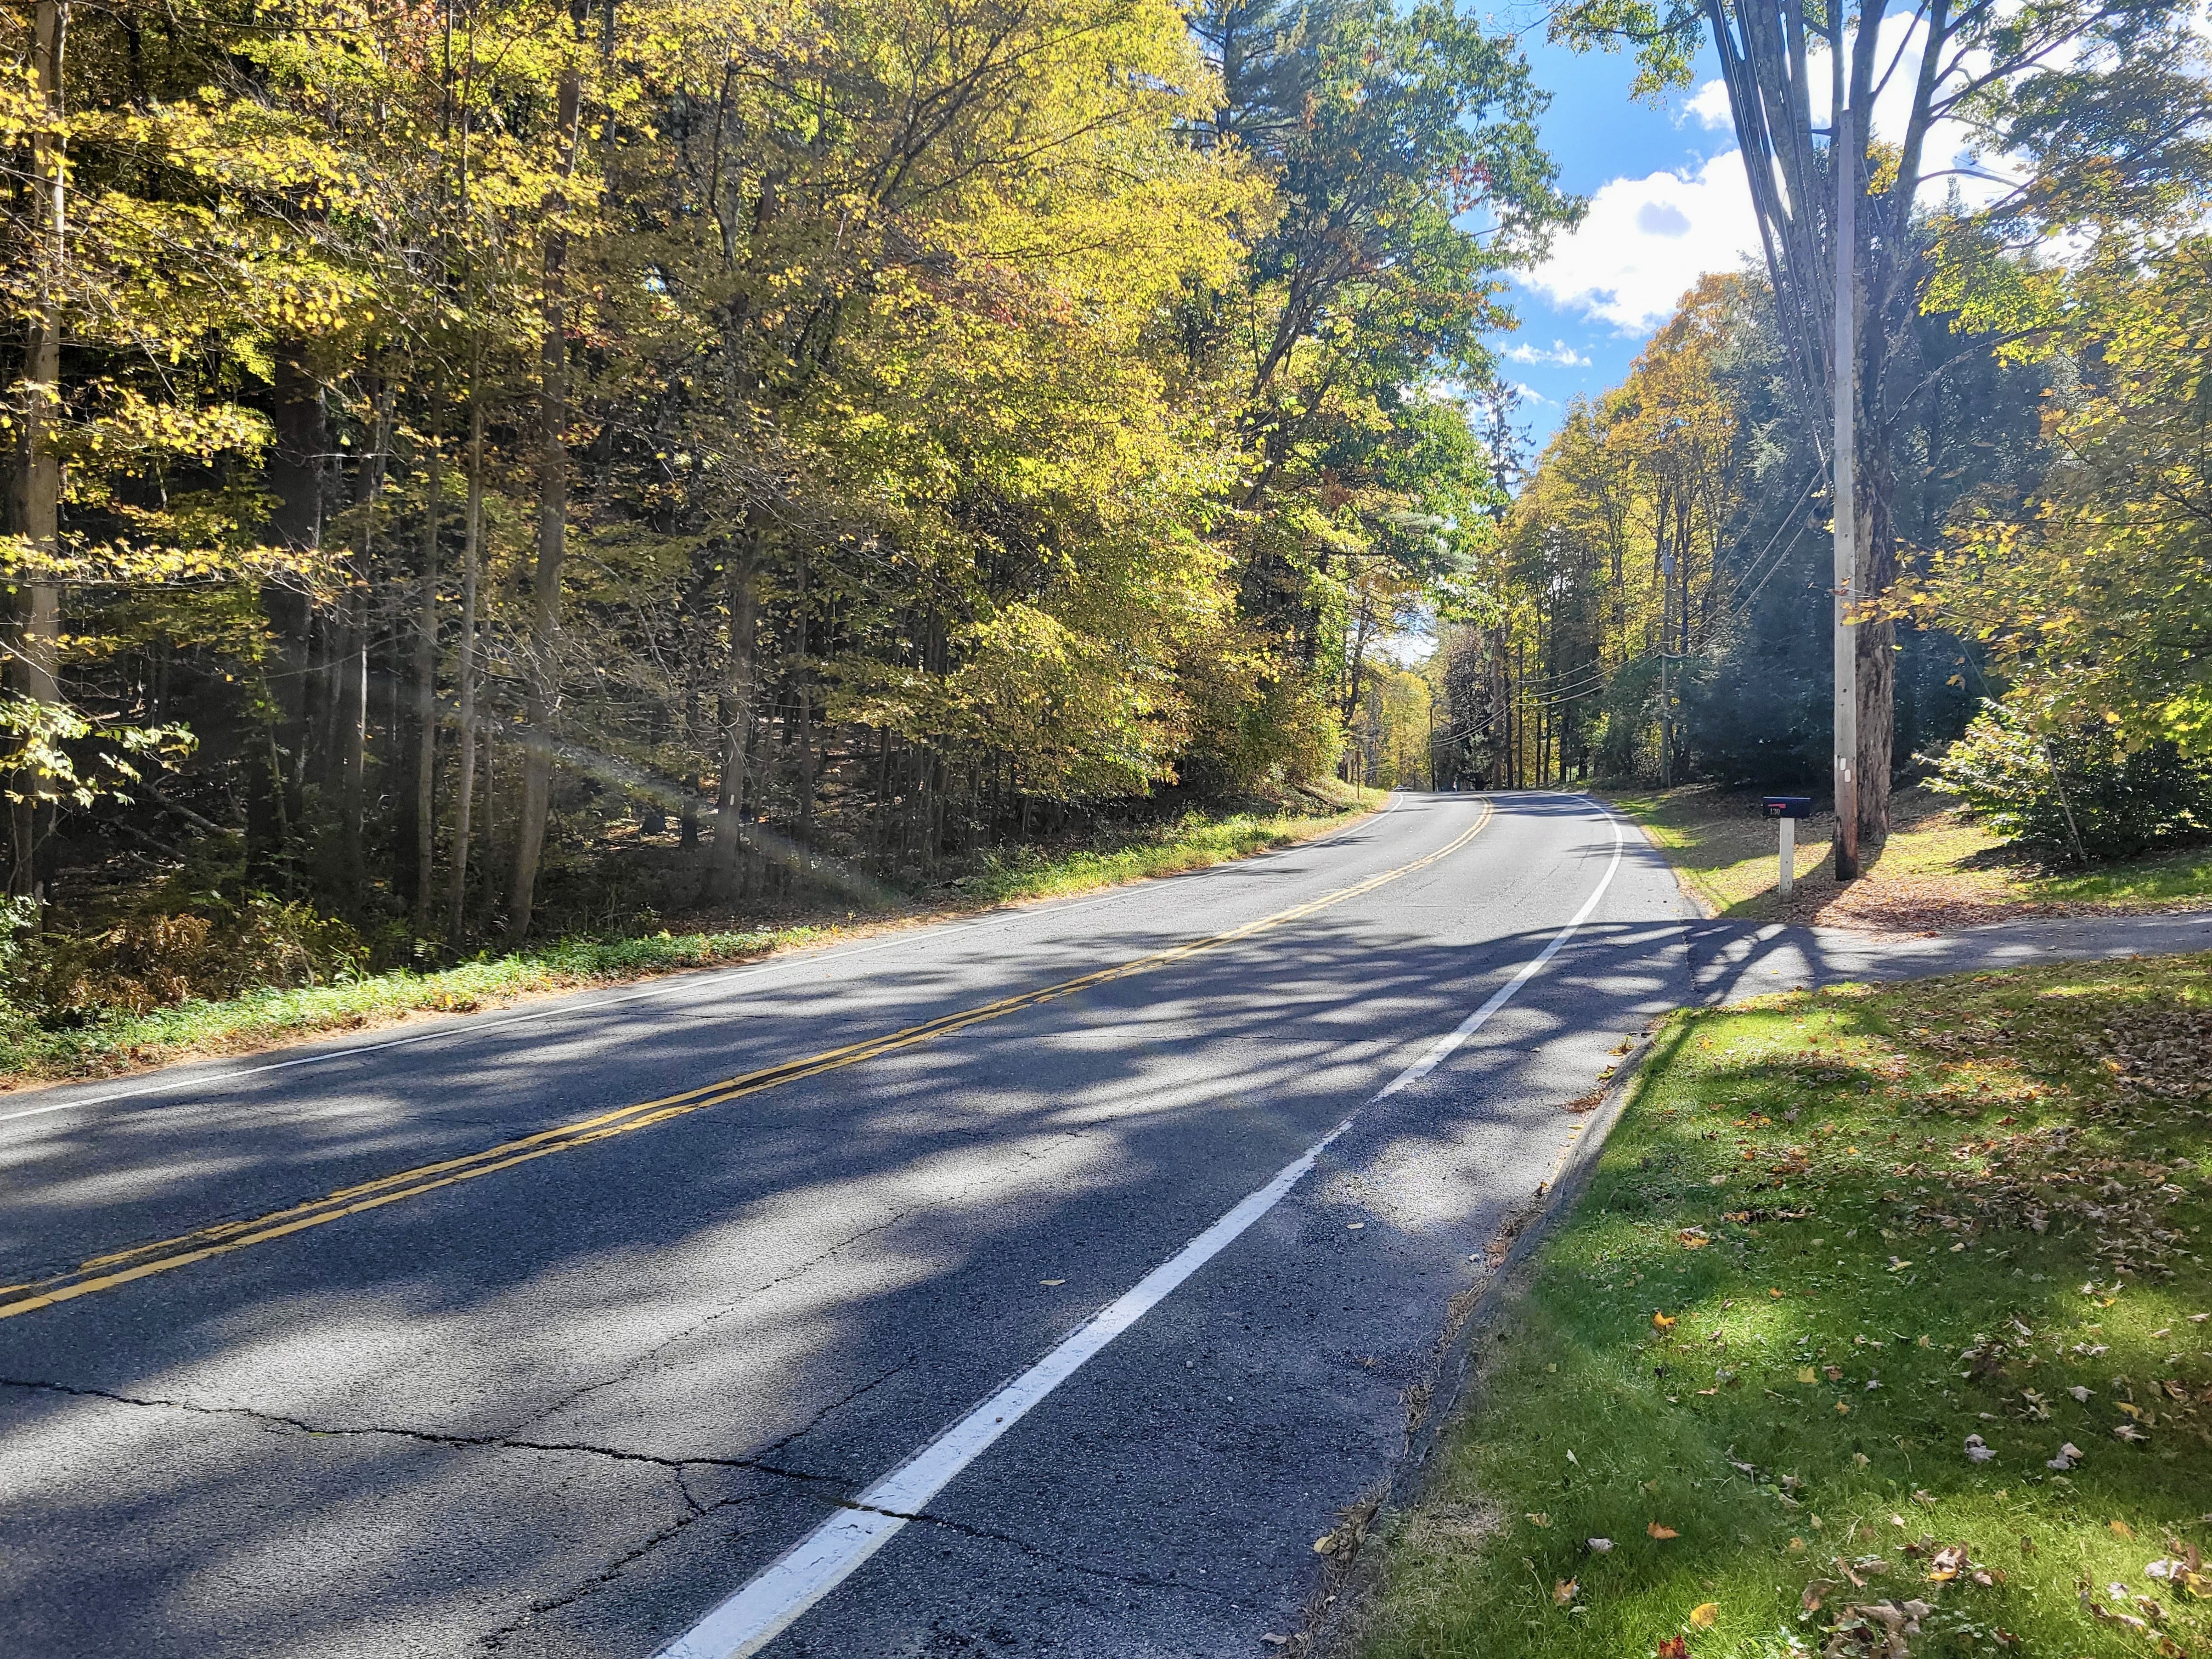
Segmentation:
{"type": "Polygon", "coordinates": [[[102,1256],[93,1256],[66,1274],[55,1274],[51,1279],[35,1281],[31,1285],[11,1285],[0,1290],[31,1290],[35,1294],[20,1296],[18,1301],[0,1303],[0,1318],[15,1318],[18,1314],[35,1314],[42,1307],[55,1307],[77,1296],[91,1296],[100,1290],[117,1290],[119,1285],[148,1279],[153,1274],[173,1272],[175,1267],[188,1267],[195,1261],[208,1261],[212,1256],[226,1256],[232,1250],[246,1250],[257,1243],[268,1243],[272,1239],[285,1239],[294,1232],[307,1228],[321,1228],[330,1221],[341,1221],[349,1214],[361,1214],[365,1210],[380,1210],[387,1203],[398,1203],[400,1199],[414,1199],[425,1192],[436,1192],[449,1188],[458,1181],[473,1181],[480,1175],[491,1175],[495,1170],[509,1170],[515,1164],[529,1164],[531,1159],[546,1157],[551,1152],[566,1152],[577,1146],[591,1146],[593,1141],[604,1141],[613,1135],[628,1135],[630,1130],[648,1128],[653,1124],[666,1124],[670,1117],[686,1117],[690,1113],[701,1113],[708,1106],[721,1106],[745,1095],[759,1095],[763,1088],[776,1088],[779,1084],[794,1084],[807,1077],[818,1077],[825,1071],[843,1071],[845,1066],[858,1066],[865,1060],[876,1060],[878,1055],[896,1053],[898,1048],[911,1048],[914,1044],[929,1042],[931,1037],[945,1037],[953,1031],[967,1031],[969,1026],[982,1024],[987,1020],[1000,1020],[1009,1013],[1020,1013],[1022,1009],[1033,1009],[1040,1002],[1053,1002],[1075,991],[1088,991],[1097,984],[1108,984],[1110,980],[1121,980],[1133,973],[1148,973],[1170,962],[1181,962],[1183,958],[1197,956],[1199,951],[1212,951],[1221,945],[1234,945],[1237,940],[1252,938],[1254,933],[1265,933],[1267,929],[1283,927],[1285,922],[1296,922],[1316,911],[1325,911],[1345,900],[1371,894],[1400,876],[1411,876],[1416,869],[1427,869],[1440,858],[1449,858],[1469,841],[1473,841],[1484,825],[1495,816],[1495,807],[1484,801],[1482,814],[1458,836],[1447,841],[1431,854],[1413,858],[1411,863],[1398,865],[1396,869],[1385,869],[1380,874],[1367,876],[1352,887],[1338,887],[1334,894],[1323,894],[1321,898],[1310,898],[1303,905],[1292,905],[1290,909],[1276,911],[1274,916],[1263,916],[1256,922],[1245,922],[1243,927],[1232,927],[1225,933],[1210,933],[1208,938],[1190,940],[1188,945],[1175,945],[1166,951],[1155,951],[1152,956],[1139,956],[1128,962],[1119,962],[1110,969],[1097,969],[1093,973],[1079,973],[1073,980],[1060,980],[1057,984],[1046,984],[1035,991],[1022,991],[1011,998],[1000,998],[998,1002],[984,1002],[975,1009],[960,1009],[958,1013],[942,1013],[936,1020],[925,1020],[922,1024],[907,1026],[902,1031],[891,1031],[883,1037],[867,1037],[863,1042],[845,1044],[843,1048],[825,1048],[823,1053],[807,1055],[803,1060],[785,1060],[779,1066],[763,1066],[759,1071],[748,1071],[737,1077],[723,1077],[714,1084],[703,1084],[699,1088],[688,1088],[681,1095],[664,1095],[659,1099],[644,1099],[635,1106],[619,1106],[608,1113],[597,1113],[595,1117],[577,1119],[575,1124],[560,1124],[555,1128],[538,1130],[535,1135],[522,1135],[511,1141],[500,1141],[498,1146],[487,1146],[480,1152],[469,1152],[465,1157],[442,1159],[438,1164],[420,1164],[411,1170],[400,1170],[396,1175],[383,1175],[374,1181],[363,1181],[358,1186],[338,1188],[327,1197],[312,1199],[307,1203],[296,1203],[288,1210],[272,1210],[270,1214],[254,1217],[252,1221],[221,1221],[210,1228],[199,1228],[197,1232],[186,1232],[175,1239],[159,1239],[155,1243],[133,1245],[128,1250],[113,1250],[102,1256]]]}

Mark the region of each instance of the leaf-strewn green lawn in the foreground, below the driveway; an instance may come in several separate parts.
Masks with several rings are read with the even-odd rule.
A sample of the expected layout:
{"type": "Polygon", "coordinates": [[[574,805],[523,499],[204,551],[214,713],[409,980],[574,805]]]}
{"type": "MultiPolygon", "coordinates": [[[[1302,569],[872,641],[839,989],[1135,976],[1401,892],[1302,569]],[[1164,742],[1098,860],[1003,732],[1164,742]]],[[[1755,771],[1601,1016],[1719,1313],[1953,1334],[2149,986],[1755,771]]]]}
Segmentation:
{"type": "Polygon", "coordinates": [[[2212,956],[1677,1015],[1365,1652],[2212,1652],[2208,1175],[2212,956]]]}

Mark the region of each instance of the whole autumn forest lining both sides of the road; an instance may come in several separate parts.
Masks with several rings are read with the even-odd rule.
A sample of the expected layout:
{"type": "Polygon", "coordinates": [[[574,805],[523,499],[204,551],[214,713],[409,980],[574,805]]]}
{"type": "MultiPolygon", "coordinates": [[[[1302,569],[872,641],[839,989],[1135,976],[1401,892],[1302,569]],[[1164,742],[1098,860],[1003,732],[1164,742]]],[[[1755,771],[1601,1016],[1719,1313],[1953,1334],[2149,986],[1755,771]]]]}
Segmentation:
{"type": "MultiPolygon", "coordinates": [[[[1865,146],[1878,770],[1949,754],[2075,852],[2199,834],[2203,40],[1971,15],[1997,66],[1942,113],[2026,181],[1931,210],[1865,146]]],[[[1657,93],[1699,20],[1551,27],[1657,93]]],[[[1451,4],[0,27],[42,1020],[869,905],[1332,776],[1825,774],[1792,268],[1708,279],[1526,456],[1504,290],[1582,204],[1515,38],[1451,4]],[[199,967],[117,967],[164,953],[199,967]]]]}

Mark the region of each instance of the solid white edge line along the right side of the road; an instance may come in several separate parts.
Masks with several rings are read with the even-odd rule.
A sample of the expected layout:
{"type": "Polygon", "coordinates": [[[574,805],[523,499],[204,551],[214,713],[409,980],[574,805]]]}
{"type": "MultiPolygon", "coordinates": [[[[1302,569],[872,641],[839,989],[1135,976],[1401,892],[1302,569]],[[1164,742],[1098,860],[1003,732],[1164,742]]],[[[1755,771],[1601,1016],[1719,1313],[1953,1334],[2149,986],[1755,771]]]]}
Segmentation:
{"type": "Polygon", "coordinates": [[[1378,1099],[1389,1099],[1400,1088],[1436,1071],[1453,1048],[1475,1035],[1493,1013],[1513,1000],[1515,991],[1559,953],[1559,947],[1573,938],[1575,929],[1590,920],[1590,911],[1597,909],[1597,902],[1613,885],[1615,872],[1621,867],[1621,823],[1610,812],[1606,821],[1613,825],[1613,860],[1606,865],[1606,874],[1597,878],[1597,887],[1582,900],[1575,918],[1553,933],[1544,949],[1524,962],[1511,980],[1500,984],[1480,1009],[1460,1020],[1420,1060],[1369,1095],[1352,1117],[1305,1148],[1292,1164],[1283,1166],[1267,1186],[1245,1197],[1234,1210],[1214,1221],[1214,1225],[1139,1279],[1102,1314],[1079,1325],[1060,1347],[860,1493],[852,1506],[841,1509],[799,1540],[772,1566],[661,1648],[657,1659],[745,1659],[783,1635],[807,1608],[889,1544],[909,1520],[918,1520],[922,1506],[945,1491],[962,1469],[989,1451],[991,1442],[1020,1422],[1031,1407],[1075,1376],[1093,1354],[1152,1312],[1177,1285],[1237,1243],[1254,1221],[1281,1203],[1314,1168],[1314,1161],[1327,1150],[1329,1141],[1352,1128],[1360,1110],[1374,1106],[1378,1099]]]}

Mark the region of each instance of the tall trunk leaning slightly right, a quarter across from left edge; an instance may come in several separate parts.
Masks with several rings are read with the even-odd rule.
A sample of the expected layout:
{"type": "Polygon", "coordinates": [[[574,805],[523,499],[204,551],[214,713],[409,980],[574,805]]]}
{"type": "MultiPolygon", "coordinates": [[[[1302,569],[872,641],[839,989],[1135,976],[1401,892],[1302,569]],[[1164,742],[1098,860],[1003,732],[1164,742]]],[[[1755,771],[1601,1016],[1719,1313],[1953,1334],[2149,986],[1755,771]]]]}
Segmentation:
{"type": "Polygon", "coordinates": [[[560,575],[568,553],[568,232],[566,181],[575,175],[577,115],[584,80],[575,64],[560,73],[555,122],[560,126],[560,179],[553,190],[553,223],[546,230],[544,343],[538,385],[538,573],[531,591],[531,659],[524,690],[522,810],[515,818],[515,880],[507,900],[507,940],[520,945],[531,931],[538,896],[538,860],[546,845],[546,807],[553,796],[551,726],[557,701],[553,653],[560,644],[560,575]]]}

